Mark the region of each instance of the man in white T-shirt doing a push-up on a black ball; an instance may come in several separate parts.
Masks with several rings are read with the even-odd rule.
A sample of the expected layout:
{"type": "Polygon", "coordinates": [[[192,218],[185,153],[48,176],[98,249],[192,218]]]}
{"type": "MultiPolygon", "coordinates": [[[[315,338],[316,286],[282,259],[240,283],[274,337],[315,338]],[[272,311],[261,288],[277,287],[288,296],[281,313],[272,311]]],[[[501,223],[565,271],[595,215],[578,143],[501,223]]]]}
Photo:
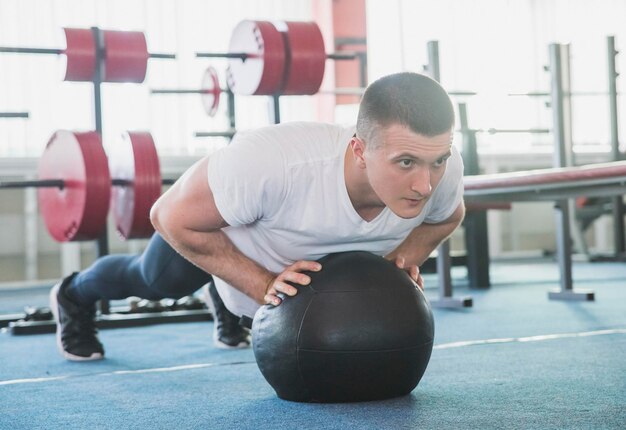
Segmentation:
{"type": "MultiPolygon", "coordinates": [[[[159,254],[150,253],[154,242],[170,264],[191,262],[197,274],[210,273],[225,307],[248,318],[263,303],[278,306],[281,297],[297,294],[293,284],[310,282],[302,272],[322,270],[315,260],[333,252],[383,255],[423,288],[418,266],[464,216],[453,125],[439,84],[399,73],[368,87],[356,133],[303,122],[240,133],[155,203],[151,220],[159,234],[142,264],[165,270],[159,254]]],[[[127,270],[136,269],[119,269],[127,270]]],[[[173,277],[166,290],[142,294],[186,295],[206,281],[186,271],[173,277]]],[[[115,298],[142,297],[123,284],[115,298]]],[[[58,290],[89,298],[82,303],[110,297],[73,282],[58,290]]],[[[59,331],[63,339],[63,323],[59,331]]],[[[89,336],[95,344],[95,333],[89,336]]]]}

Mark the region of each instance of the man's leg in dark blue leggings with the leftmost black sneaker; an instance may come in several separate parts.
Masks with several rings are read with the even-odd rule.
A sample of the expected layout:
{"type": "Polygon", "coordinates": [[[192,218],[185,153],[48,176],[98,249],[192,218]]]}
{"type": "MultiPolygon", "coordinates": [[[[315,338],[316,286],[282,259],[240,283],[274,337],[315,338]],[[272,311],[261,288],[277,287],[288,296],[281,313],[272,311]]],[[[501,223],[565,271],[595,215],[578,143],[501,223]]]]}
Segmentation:
{"type": "MultiPolygon", "coordinates": [[[[158,234],[152,236],[140,255],[99,258],[88,269],[63,279],[51,291],[59,349],[69,360],[103,358],[104,349],[95,327],[95,303],[100,299],[130,296],[178,299],[193,294],[211,279],[211,275],[181,257],[158,234]]],[[[215,320],[218,324],[218,315],[215,320]]],[[[244,330],[234,328],[237,329],[244,330]]],[[[244,346],[248,345],[249,342],[244,346]]]]}

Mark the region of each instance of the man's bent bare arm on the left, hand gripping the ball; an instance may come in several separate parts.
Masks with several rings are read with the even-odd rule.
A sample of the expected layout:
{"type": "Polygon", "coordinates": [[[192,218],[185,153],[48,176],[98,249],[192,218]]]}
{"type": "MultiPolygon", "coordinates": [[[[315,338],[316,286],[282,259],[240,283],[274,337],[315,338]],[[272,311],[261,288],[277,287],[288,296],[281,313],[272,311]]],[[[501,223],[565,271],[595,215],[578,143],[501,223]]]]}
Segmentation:
{"type": "Polygon", "coordinates": [[[155,229],[183,257],[258,303],[276,303],[273,294],[266,295],[270,287],[272,292],[295,294],[295,288],[282,281],[306,285],[310,278],[299,272],[319,270],[319,264],[296,262],[277,275],[246,257],[222,231],[228,224],[215,205],[207,166],[208,158],[194,164],[157,200],[150,212],[155,229]]]}

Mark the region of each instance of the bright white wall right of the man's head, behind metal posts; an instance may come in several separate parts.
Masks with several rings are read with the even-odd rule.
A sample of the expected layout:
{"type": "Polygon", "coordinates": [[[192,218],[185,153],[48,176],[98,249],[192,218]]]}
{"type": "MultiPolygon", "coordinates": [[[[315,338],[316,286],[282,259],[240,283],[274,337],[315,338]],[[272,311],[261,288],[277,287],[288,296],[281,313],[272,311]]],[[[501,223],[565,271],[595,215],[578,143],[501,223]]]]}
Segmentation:
{"type": "MultiPolygon", "coordinates": [[[[606,91],[607,36],[615,36],[618,50],[626,51],[625,0],[368,0],[367,17],[371,79],[421,71],[428,61],[426,43],[438,40],[442,84],[479,92],[467,99],[475,127],[551,126],[545,100],[506,96],[549,91],[543,66],[550,43],[570,43],[575,91],[606,91]]],[[[617,69],[626,70],[625,54],[617,56],[617,69]]],[[[623,98],[619,111],[626,111],[623,98]]],[[[608,150],[606,99],[574,99],[573,117],[575,143],[608,150]]],[[[623,124],[620,131],[626,132],[623,124]]],[[[499,152],[520,146],[531,150],[533,142],[551,144],[549,138],[529,136],[482,141],[483,149],[496,146],[499,152]]]]}

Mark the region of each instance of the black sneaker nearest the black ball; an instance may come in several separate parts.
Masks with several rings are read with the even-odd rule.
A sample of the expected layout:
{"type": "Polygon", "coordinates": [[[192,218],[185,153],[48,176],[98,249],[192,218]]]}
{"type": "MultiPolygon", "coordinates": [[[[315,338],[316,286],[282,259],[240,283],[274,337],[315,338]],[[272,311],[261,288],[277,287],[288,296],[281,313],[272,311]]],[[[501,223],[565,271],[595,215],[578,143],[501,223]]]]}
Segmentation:
{"type": "Polygon", "coordinates": [[[213,314],[213,343],[222,349],[250,347],[250,330],[239,324],[239,317],[232,314],[217,293],[215,284],[204,286],[204,295],[213,314]]]}

